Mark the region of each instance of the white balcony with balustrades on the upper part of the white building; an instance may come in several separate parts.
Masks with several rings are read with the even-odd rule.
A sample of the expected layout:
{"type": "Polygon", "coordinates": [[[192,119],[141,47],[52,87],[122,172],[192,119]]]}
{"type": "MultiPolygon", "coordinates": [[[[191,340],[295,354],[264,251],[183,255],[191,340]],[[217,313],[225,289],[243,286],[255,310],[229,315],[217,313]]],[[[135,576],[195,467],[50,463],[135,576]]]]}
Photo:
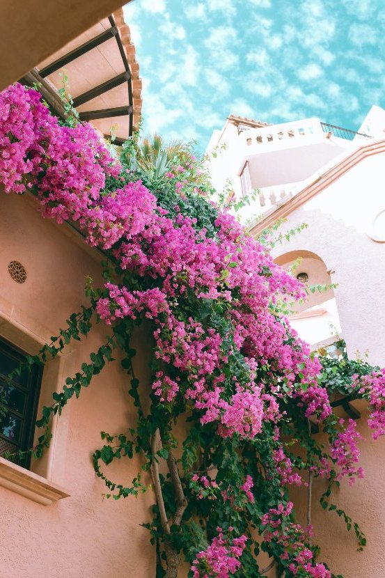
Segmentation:
{"type": "Polygon", "coordinates": [[[243,130],[238,176],[243,196],[258,189],[253,217],[296,194],[320,169],[368,138],[318,118],[243,130]]]}

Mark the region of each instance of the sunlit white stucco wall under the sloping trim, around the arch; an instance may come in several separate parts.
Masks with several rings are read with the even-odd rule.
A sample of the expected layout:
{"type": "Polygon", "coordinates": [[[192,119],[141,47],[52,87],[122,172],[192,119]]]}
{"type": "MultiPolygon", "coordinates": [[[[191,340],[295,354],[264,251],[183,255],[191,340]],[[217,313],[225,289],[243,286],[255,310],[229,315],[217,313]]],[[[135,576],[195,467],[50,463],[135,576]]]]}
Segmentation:
{"type": "Polygon", "coordinates": [[[372,364],[385,366],[385,244],[366,231],[385,209],[384,153],[367,157],[327,189],[288,215],[285,231],[301,223],[308,228],[292,237],[287,251],[313,251],[330,271],[343,336],[351,357],[368,350],[372,364]]]}

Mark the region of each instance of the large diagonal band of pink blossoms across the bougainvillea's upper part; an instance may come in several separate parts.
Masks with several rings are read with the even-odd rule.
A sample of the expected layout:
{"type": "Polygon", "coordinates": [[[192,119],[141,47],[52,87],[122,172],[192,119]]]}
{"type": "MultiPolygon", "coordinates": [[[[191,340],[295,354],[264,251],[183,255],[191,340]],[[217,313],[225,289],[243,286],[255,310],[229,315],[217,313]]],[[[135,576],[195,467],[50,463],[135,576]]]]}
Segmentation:
{"type": "MultiPolygon", "coordinates": [[[[97,313],[107,324],[139,315],[154,322],[164,374],[153,385],[159,403],[172,403],[181,391],[202,423],[217,421],[225,437],[256,437],[264,421],[279,419],[284,396],[297,396],[306,415],[323,419],[329,406],[317,386],[320,365],[271,308],[278,293],[302,297],[301,284],[228,212],[219,212],[217,235],[210,237],[197,229],[196,219],[181,213],[171,219],[141,182],[106,194],[105,175],[118,178],[119,171],[91,125],[59,125],[40,95],[20,85],[0,94],[0,180],[6,191],[35,187],[46,216],[78,221],[88,243],[111,249],[122,270],[142,278],[141,290],[107,283],[97,313]],[[193,296],[216,299],[228,329],[180,315],[180,300],[193,296]],[[243,373],[233,379],[228,367],[235,354],[242,356],[243,373]],[[166,378],[167,366],[180,381],[166,378]],[[269,368],[267,384],[256,383],[261,367],[269,368]]],[[[171,178],[178,185],[180,175],[188,174],[189,166],[176,166],[171,178]]]]}

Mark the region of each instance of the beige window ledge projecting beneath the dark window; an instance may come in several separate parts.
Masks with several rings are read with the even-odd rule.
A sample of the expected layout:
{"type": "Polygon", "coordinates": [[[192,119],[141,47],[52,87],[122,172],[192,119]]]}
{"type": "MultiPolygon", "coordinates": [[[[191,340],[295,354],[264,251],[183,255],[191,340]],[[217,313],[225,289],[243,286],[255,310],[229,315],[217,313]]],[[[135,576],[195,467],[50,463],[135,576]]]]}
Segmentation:
{"type": "Polygon", "coordinates": [[[0,458],[0,486],[43,506],[70,496],[59,485],[4,458],[0,458]]]}

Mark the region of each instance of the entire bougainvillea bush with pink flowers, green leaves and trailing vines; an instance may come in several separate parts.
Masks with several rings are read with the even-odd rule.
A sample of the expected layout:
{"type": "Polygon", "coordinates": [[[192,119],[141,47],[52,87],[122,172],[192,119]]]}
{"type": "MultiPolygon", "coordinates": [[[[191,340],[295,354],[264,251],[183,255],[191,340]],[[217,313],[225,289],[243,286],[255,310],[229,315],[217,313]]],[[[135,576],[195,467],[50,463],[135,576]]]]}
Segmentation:
{"type": "MultiPolygon", "coordinates": [[[[146,526],[157,576],[178,576],[184,559],[194,578],[260,577],[267,572],[258,565],[264,551],[278,576],[330,578],[311,538],[311,503],[309,524],[300,526],[289,491],[325,478],[322,507],[343,516],[365,544],[359,526],[329,501],[341,478],[352,483],[363,476],[356,424],[333,414],[327,389],[349,362],[338,368],[338,361],[316,357],[290,327],[279,302],[303,298],[304,287],[210,201],[210,182],[189,149],[176,147],[152,169],[141,154],[131,139],[118,159],[91,125],[59,122],[35,90],[16,84],[0,95],[4,191],[31,192],[43,217],[71,220],[106,253],[104,286],[86,288],[89,307],[72,313],[30,359],[44,363],[95,322],[111,328],[108,341],[43,409],[32,451],[42,454],[52,415],[120,348],[137,422],[125,432],[102,432],[93,464],[107,497],[119,499],[148,488],[141,472],[129,486],[110,481],[108,464],[142,455],[156,498],[146,526]],[[130,345],[143,320],[153,337],[146,412],[148,393],[134,375],[130,345]],[[312,424],[329,444],[316,441],[312,424]],[[180,425],[187,434],[177,442],[180,425]],[[167,475],[159,473],[160,462],[167,475]]],[[[368,400],[378,437],[385,430],[385,374],[355,363],[356,372],[345,371],[331,389],[368,400]]]]}

